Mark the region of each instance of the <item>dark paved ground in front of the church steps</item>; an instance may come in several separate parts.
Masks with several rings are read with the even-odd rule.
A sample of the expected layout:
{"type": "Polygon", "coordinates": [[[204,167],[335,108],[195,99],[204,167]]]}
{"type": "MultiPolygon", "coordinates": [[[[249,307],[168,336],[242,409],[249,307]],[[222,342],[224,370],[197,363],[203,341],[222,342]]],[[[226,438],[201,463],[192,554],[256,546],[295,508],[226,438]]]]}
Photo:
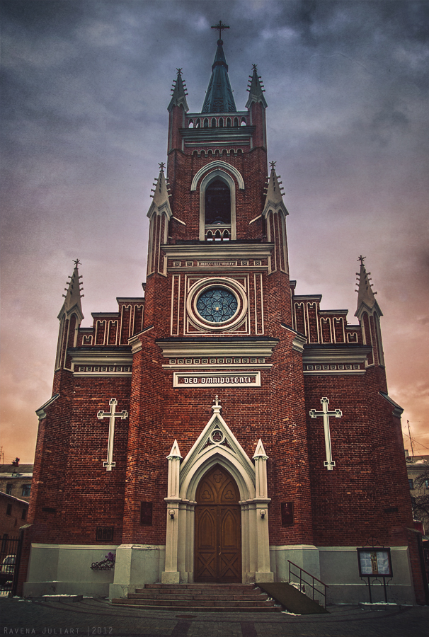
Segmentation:
{"type": "Polygon", "coordinates": [[[428,637],[429,607],[329,607],[326,615],[194,613],[81,602],[0,599],[1,635],[112,637],[428,637]]]}

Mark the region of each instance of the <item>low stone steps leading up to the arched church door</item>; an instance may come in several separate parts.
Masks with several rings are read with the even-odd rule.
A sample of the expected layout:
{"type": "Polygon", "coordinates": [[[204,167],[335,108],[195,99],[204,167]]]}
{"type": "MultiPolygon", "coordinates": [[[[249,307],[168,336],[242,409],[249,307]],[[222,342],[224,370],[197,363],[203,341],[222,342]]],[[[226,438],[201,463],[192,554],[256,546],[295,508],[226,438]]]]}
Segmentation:
{"type": "Polygon", "coordinates": [[[253,584],[145,584],[112,604],[186,612],[279,612],[280,605],[253,584]]]}

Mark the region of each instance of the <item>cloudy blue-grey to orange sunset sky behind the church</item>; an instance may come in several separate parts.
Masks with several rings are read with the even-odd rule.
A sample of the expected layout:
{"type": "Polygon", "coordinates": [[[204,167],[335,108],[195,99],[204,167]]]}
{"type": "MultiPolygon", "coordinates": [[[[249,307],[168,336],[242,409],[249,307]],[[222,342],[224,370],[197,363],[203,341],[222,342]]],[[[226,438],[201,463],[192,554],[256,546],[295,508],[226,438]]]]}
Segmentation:
{"type": "MultiPolygon", "coordinates": [[[[389,394],[429,454],[427,1],[1,2],[1,420],[33,461],[57,314],[81,260],[83,326],[139,296],[146,213],[183,68],[200,111],[222,19],[237,108],[265,84],[268,157],[290,212],[297,294],[355,322],[357,257],[384,313],[389,394]]],[[[405,438],[406,448],[411,449],[405,438]]]]}

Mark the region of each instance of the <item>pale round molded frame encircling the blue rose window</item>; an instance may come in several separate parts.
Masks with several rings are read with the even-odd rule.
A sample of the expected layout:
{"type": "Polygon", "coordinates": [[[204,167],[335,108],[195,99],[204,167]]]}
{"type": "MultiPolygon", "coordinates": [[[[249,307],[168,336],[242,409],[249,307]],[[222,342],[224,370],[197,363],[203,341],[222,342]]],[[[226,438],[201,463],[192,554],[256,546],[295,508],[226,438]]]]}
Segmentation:
{"type": "Polygon", "coordinates": [[[190,321],[195,327],[198,327],[204,331],[227,331],[236,328],[246,318],[248,309],[246,290],[238,281],[234,279],[211,277],[210,279],[202,279],[196,282],[188,292],[188,299],[186,299],[186,310],[190,321]],[[197,302],[201,294],[207,292],[212,287],[223,287],[228,292],[234,294],[237,299],[237,309],[234,316],[231,319],[222,323],[216,323],[214,321],[207,321],[198,312],[197,302]]]}

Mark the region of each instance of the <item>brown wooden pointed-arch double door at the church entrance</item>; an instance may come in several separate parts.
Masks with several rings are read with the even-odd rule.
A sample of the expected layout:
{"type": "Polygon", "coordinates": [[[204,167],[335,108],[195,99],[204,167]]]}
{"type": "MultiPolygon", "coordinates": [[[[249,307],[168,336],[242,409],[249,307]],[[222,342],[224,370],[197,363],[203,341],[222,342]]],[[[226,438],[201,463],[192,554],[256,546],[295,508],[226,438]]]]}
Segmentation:
{"type": "Polygon", "coordinates": [[[232,476],[216,465],[198,485],[195,582],[241,582],[241,507],[232,476]]]}

